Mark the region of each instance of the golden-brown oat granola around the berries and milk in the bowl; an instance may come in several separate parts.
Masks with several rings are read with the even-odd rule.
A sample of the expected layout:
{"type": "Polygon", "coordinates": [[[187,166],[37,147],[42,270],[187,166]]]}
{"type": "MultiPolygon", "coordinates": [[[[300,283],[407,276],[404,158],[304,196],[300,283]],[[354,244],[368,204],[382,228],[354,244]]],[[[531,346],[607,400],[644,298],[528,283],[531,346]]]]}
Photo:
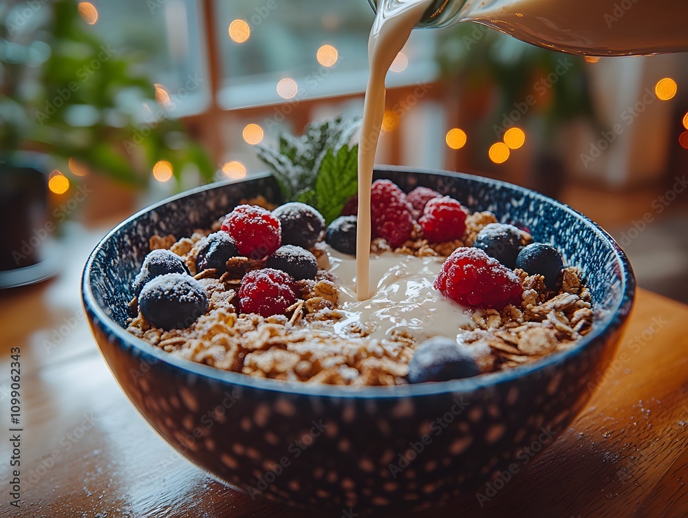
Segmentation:
{"type": "MultiPolygon", "coordinates": [[[[270,207],[264,199],[251,200],[270,207]]],[[[446,257],[459,246],[471,246],[480,230],[495,223],[495,215],[477,212],[466,217],[462,239],[431,244],[419,229],[402,246],[390,250],[384,239],[374,239],[371,250],[382,254],[415,257],[446,257]]],[[[151,250],[166,248],[180,256],[208,293],[208,311],[184,329],[165,331],[153,327],[140,312],[129,320],[127,331],[170,354],[219,369],[277,380],[320,382],[332,385],[403,385],[408,381],[409,361],[417,340],[404,330],[384,338],[372,338],[369,322],[352,322],[333,332],[344,312],[337,279],[327,272],[327,247],[316,244],[312,252],[320,270],[315,280],[297,282],[298,299],[284,314],[264,318],[238,310],[241,278],[264,268],[264,260],[233,257],[226,272],[196,271],[196,259],[204,238],[219,230],[222,220],[210,229],[195,230],[190,237],[172,235],[150,239],[151,250]]],[[[522,244],[532,238],[522,232],[522,244]]],[[[543,277],[515,270],[522,300],[503,310],[466,310],[469,325],[459,341],[470,347],[482,373],[525,365],[552,352],[573,346],[592,327],[590,293],[574,267],[563,270],[561,288],[548,290],[543,277]]],[[[130,307],[136,310],[136,299],[130,307]]]]}

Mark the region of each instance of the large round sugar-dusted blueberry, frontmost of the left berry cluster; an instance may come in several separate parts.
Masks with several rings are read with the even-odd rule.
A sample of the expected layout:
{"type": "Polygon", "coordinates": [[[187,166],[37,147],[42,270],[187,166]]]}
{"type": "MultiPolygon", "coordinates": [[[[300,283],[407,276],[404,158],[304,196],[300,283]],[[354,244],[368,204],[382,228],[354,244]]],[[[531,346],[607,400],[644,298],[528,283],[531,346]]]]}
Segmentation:
{"type": "Polygon", "coordinates": [[[190,275],[169,273],[155,277],[143,287],[138,307],[144,319],[155,327],[183,329],[208,310],[208,295],[190,275]]]}

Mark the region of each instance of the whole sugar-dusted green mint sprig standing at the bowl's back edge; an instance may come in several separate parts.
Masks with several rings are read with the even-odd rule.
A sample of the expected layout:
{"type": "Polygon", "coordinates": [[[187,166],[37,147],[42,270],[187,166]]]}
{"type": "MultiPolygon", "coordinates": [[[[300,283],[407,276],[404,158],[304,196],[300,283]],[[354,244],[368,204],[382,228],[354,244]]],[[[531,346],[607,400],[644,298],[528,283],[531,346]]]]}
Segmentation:
{"type": "Polygon", "coordinates": [[[283,133],[277,149],[257,146],[257,155],[277,179],[287,202],[316,208],[330,224],[358,189],[358,146],[349,141],[360,118],[338,116],[312,122],[303,135],[283,133]]]}

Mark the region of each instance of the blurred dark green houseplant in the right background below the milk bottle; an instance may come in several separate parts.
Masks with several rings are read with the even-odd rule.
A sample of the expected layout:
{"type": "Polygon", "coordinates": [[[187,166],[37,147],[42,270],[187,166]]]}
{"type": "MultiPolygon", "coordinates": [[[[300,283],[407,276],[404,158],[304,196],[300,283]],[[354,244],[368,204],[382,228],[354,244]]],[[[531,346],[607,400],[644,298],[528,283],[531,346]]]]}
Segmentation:
{"type": "Polygon", "coordinates": [[[491,142],[502,140],[510,127],[527,128],[535,151],[526,183],[557,195],[565,168],[561,129],[576,118],[597,125],[584,58],[528,45],[475,23],[440,32],[437,49],[447,84],[466,100],[460,118],[475,125],[484,143],[471,148],[472,162],[484,169],[484,149],[491,142]]]}

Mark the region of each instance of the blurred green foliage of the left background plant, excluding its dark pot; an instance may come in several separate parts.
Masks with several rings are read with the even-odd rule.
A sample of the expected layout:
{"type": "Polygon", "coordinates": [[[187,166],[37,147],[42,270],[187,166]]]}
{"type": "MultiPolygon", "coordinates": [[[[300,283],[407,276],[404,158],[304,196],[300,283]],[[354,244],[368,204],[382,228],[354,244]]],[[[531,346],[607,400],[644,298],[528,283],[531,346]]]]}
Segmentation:
{"type": "Polygon", "coordinates": [[[169,94],[138,72],[146,50],[126,54],[102,41],[97,17],[74,0],[2,3],[0,152],[41,151],[63,170],[72,159],[72,169],[133,186],[145,186],[159,160],[177,177],[193,166],[211,180],[204,148],[167,117],[169,94]]]}

